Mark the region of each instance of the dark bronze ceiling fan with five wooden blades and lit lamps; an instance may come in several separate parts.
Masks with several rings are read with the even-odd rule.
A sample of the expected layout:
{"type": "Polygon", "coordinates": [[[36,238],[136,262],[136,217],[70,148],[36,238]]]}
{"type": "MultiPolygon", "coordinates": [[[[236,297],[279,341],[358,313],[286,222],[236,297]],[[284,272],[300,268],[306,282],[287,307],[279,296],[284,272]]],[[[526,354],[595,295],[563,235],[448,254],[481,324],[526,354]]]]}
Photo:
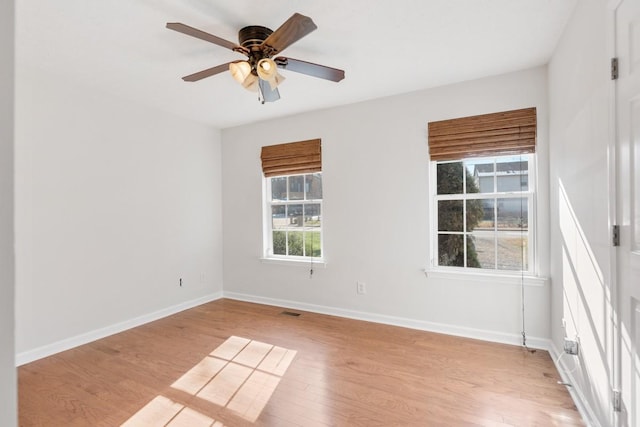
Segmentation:
{"type": "Polygon", "coordinates": [[[238,32],[239,44],[179,22],[168,22],[167,28],[231,49],[247,57],[246,60],[227,62],[184,76],[182,80],[187,82],[195,82],[229,70],[233,78],[245,89],[259,92],[259,99],[264,103],[280,99],[278,85],[284,77],[278,73],[278,68],[333,82],[344,79],[344,71],[337,68],[284,56],[273,58],[318,28],[311,18],[299,13],[294,13],[275,31],[259,25],[242,28],[238,32]]]}

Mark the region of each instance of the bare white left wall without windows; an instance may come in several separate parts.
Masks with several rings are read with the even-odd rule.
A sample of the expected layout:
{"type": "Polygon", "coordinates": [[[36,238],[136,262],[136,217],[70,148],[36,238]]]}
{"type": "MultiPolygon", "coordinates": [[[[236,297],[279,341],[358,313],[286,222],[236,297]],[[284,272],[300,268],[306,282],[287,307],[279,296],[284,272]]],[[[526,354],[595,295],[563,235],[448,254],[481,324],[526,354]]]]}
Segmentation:
{"type": "Polygon", "coordinates": [[[17,71],[19,362],[219,296],[220,132],[17,71]]]}

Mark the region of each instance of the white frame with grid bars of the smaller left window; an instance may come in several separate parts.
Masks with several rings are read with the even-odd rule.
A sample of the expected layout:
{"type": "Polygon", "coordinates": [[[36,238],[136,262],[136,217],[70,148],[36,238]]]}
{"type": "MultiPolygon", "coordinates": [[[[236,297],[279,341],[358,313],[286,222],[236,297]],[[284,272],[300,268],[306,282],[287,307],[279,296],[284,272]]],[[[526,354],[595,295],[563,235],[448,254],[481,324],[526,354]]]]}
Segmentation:
{"type": "MultiPolygon", "coordinates": [[[[289,200],[289,190],[290,187],[289,185],[287,185],[287,200],[283,200],[283,201],[274,201],[272,199],[272,188],[271,188],[271,182],[272,179],[276,179],[276,178],[287,178],[287,182],[288,182],[288,178],[291,177],[298,177],[298,176],[302,176],[302,177],[306,177],[308,175],[320,175],[321,178],[321,182],[322,182],[322,171],[317,171],[317,172],[306,172],[306,173],[296,173],[296,174],[285,174],[285,175],[273,175],[273,176],[267,176],[267,177],[263,177],[263,211],[264,211],[264,218],[263,218],[263,222],[264,222],[264,226],[263,226],[263,230],[264,230],[264,239],[263,239],[263,260],[265,261],[283,261],[283,262],[298,262],[298,263],[309,263],[309,262],[313,262],[313,263],[318,263],[318,264],[323,264],[324,263],[324,221],[323,221],[323,216],[324,216],[324,206],[323,206],[323,199],[324,199],[324,185],[322,185],[322,192],[321,192],[321,196],[322,198],[320,199],[306,199],[306,195],[307,195],[307,189],[306,186],[303,185],[304,188],[304,195],[303,198],[301,200],[289,200]],[[304,227],[304,225],[302,227],[285,227],[283,229],[283,231],[299,231],[299,232],[318,232],[320,233],[320,256],[319,257],[314,257],[314,256],[308,256],[308,255],[288,255],[288,254],[274,254],[273,253],[273,232],[274,231],[278,231],[277,229],[273,228],[273,221],[272,221],[272,207],[273,206],[287,206],[287,205],[303,205],[303,209],[304,209],[304,205],[309,205],[309,204],[318,204],[320,205],[320,227],[313,227],[312,229],[308,229],[307,227],[304,227]]],[[[286,239],[286,245],[288,248],[289,242],[288,242],[288,238],[286,239]]],[[[306,245],[304,243],[303,240],[303,251],[306,251],[306,245]]],[[[288,252],[288,249],[287,251],[288,252]]]]}

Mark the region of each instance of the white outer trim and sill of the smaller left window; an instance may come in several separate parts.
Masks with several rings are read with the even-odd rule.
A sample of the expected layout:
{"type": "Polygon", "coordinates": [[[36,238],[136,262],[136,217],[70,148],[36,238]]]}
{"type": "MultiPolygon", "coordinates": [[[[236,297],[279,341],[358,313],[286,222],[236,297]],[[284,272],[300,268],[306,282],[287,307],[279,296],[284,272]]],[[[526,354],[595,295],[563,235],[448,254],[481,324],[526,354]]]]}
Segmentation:
{"type": "MultiPolygon", "coordinates": [[[[317,173],[317,172],[315,172],[317,173]]],[[[322,173],[322,172],[319,172],[322,173]]],[[[311,175],[313,173],[303,173],[303,174],[292,174],[292,175],[282,175],[282,176],[300,176],[300,175],[311,175]]],[[[292,266],[304,266],[309,267],[312,266],[322,266],[326,267],[326,261],[324,258],[324,220],[322,221],[322,225],[320,226],[320,253],[322,256],[320,257],[309,257],[309,256],[296,256],[296,255],[275,255],[272,253],[273,250],[273,233],[272,233],[272,218],[271,218],[271,178],[273,177],[265,177],[262,178],[262,256],[260,260],[264,263],[268,264],[281,264],[281,265],[292,265],[292,266]]],[[[277,204],[305,204],[305,203],[319,203],[320,204],[320,212],[321,215],[324,216],[324,184],[322,188],[322,199],[319,200],[291,200],[285,203],[277,203],[277,204]]]]}

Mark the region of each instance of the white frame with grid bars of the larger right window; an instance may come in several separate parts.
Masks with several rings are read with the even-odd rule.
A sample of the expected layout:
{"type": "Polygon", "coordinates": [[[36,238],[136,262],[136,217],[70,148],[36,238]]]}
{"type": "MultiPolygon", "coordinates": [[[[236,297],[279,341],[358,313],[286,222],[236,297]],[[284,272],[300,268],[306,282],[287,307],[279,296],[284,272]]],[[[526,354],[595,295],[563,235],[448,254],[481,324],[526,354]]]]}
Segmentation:
{"type": "MultiPolygon", "coordinates": [[[[432,160],[429,161],[429,215],[430,215],[430,244],[429,248],[431,251],[429,267],[425,270],[427,276],[437,276],[437,273],[460,273],[460,274],[475,274],[481,276],[524,276],[524,277],[537,277],[539,266],[538,266],[538,247],[537,247],[537,194],[538,194],[538,181],[537,181],[537,167],[536,167],[536,154],[521,154],[521,155],[491,155],[491,156],[477,156],[477,157],[465,157],[457,160],[432,160]],[[438,164],[443,163],[457,163],[462,162],[463,171],[465,171],[466,166],[465,162],[473,161],[478,162],[478,160],[486,159],[493,160],[494,164],[496,164],[496,160],[500,158],[521,158],[522,160],[528,161],[528,190],[526,191],[497,191],[497,179],[494,180],[494,191],[491,193],[462,193],[462,194],[437,194],[437,171],[438,164]],[[461,235],[469,235],[471,232],[468,231],[460,231],[460,232],[445,232],[442,233],[438,230],[438,201],[440,200],[462,200],[463,201],[463,221],[465,222],[466,228],[466,200],[497,200],[502,198],[512,198],[519,199],[524,197],[528,200],[528,211],[527,211],[527,240],[528,240],[528,251],[527,251],[527,269],[526,270],[506,270],[506,269],[498,269],[498,268],[477,268],[477,267],[467,267],[467,266],[447,266],[447,265],[439,265],[439,253],[438,253],[438,239],[440,234],[461,234],[461,235]],[[436,273],[435,275],[433,273],[436,273]]],[[[494,176],[497,175],[497,171],[494,169],[494,176]]],[[[466,172],[463,173],[463,189],[466,191],[466,172]]],[[[494,224],[494,232],[497,231],[497,221],[494,224]]],[[[497,240],[497,236],[496,236],[497,240]]],[[[464,248],[464,259],[466,264],[466,244],[463,245],[464,248]]],[[[497,247],[494,248],[496,251],[496,263],[498,263],[497,259],[497,247]]]]}

